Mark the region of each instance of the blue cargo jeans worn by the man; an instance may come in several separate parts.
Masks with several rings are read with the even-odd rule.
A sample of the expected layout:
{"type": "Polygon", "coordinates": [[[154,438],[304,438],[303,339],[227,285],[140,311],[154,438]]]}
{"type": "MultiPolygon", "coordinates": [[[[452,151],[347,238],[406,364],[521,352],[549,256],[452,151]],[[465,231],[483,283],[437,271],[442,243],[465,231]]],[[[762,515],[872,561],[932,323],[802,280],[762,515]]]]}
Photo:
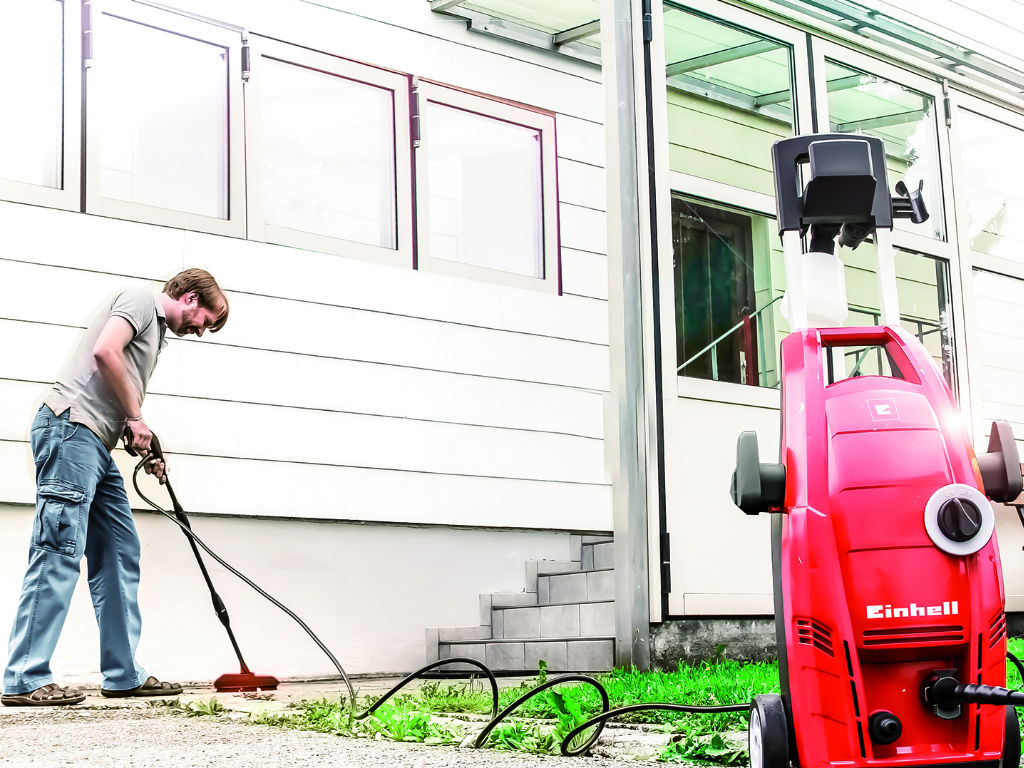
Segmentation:
{"type": "Polygon", "coordinates": [[[99,625],[103,687],[126,690],[147,675],[135,663],[140,547],[114,458],[88,427],[43,406],[32,423],[36,517],[29,567],[10,633],[4,693],[53,682],[50,657],[63,628],[82,555],[99,625]]]}

